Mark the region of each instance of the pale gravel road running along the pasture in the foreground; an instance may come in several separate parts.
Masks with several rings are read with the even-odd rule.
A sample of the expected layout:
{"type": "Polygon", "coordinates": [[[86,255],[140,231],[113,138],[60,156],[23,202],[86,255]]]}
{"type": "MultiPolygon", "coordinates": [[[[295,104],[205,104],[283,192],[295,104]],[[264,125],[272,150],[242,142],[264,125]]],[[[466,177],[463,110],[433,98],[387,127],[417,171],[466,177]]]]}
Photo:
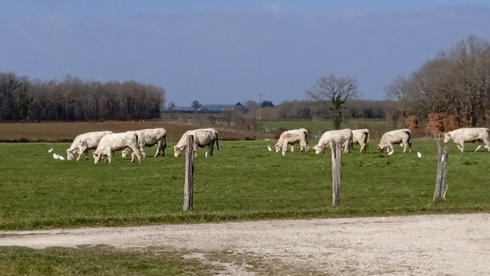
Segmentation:
{"type": "Polygon", "coordinates": [[[87,244],[181,251],[230,275],[488,275],[490,214],[0,231],[0,246],[87,244]]]}

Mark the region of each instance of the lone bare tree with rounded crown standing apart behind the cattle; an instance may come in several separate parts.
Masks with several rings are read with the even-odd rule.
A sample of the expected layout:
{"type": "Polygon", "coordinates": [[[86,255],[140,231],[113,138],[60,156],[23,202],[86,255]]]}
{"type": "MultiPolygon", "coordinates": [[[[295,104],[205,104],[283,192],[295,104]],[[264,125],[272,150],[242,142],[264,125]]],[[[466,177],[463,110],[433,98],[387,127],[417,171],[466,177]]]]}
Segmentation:
{"type": "Polygon", "coordinates": [[[323,105],[328,106],[334,113],[334,125],[340,128],[342,123],[342,108],[347,99],[357,97],[356,80],[350,77],[337,78],[333,74],[320,78],[314,87],[307,91],[307,96],[323,105]]]}

